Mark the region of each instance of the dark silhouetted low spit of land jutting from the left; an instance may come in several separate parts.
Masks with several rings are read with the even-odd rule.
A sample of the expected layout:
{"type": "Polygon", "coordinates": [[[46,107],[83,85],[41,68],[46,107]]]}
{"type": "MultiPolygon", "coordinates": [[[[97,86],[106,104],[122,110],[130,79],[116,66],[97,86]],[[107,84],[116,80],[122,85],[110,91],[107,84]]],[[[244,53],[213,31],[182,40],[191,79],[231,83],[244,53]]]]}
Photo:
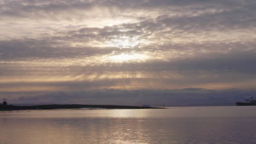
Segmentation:
{"type": "Polygon", "coordinates": [[[14,106],[0,105],[0,110],[52,110],[52,109],[79,109],[79,108],[102,108],[102,109],[164,109],[162,107],[143,106],[122,106],[122,105],[34,105],[34,106],[14,106]]]}

